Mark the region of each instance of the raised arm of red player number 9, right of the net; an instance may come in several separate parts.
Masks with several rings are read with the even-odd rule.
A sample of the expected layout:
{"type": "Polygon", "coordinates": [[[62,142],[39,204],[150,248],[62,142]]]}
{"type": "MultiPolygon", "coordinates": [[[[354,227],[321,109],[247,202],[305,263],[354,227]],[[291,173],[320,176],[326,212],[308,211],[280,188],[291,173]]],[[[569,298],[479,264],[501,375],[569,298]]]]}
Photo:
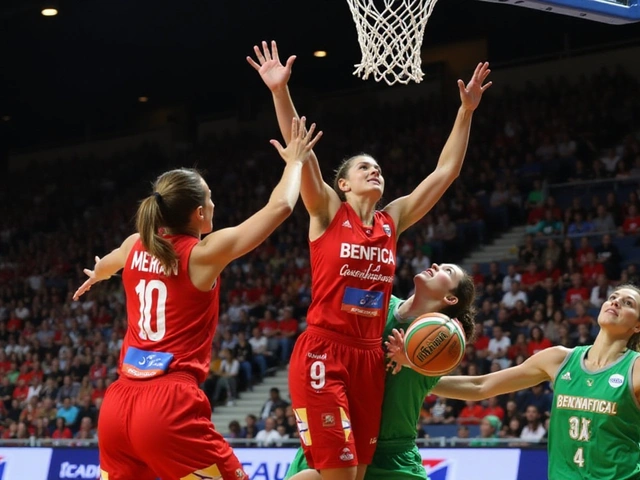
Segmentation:
{"type": "Polygon", "coordinates": [[[385,208],[395,220],[396,235],[400,235],[426,215],[460,175],[469,141],[471,118],[480,104],[482,94],[491,86],[492,82],[484,83],[490,72],[488,63],[480,63],[467,85],[458,80],[462,104],[436,169],[413,192],[392,201],[385,208]]]}

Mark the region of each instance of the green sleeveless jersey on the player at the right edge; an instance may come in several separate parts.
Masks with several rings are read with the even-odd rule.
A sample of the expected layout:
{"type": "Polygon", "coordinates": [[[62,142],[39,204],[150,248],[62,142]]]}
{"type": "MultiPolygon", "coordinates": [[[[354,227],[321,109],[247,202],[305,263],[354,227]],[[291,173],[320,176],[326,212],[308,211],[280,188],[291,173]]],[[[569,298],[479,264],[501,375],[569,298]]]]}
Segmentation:
{"type": "Polygon", "coordinates": [[[629,350],[590,372],[589,348],[574,348],[553,383],[549,479],[639,479],[640,405],[632,372],[640,354],[629,350]]]}

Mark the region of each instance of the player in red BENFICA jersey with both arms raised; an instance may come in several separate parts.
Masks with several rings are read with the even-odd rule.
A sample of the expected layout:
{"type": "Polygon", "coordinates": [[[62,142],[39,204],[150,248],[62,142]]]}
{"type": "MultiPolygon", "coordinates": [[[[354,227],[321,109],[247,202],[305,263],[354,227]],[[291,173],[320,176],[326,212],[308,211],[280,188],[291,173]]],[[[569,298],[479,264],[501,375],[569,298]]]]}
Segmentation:
{"type": "MultiPolygon", "coordinates": [[[[278,123],[296,116],[287,83],[295,57],[286,65],[275,42],[254,47],[260,73],[273,94],[278,123]]],[[[393,286],[396,240],[420,220],[459,175],[471,117],[489,65],[479,64],[465,86],[458,80],[462,105],[434,172],[409,195],[376,210],[384,190],[378,163],[357,155],[339,167],[334,188],[327,185],[317,158],[302,171],[302,200],[310,215],[313,298],[307,330],[295,344],[289,388],[300,437],[311,468],[296,479],[361,480],[376,448],[384,389],[380,345],[393,286]],[[335,190],[334,190],[335,189],[335,190]]]]}

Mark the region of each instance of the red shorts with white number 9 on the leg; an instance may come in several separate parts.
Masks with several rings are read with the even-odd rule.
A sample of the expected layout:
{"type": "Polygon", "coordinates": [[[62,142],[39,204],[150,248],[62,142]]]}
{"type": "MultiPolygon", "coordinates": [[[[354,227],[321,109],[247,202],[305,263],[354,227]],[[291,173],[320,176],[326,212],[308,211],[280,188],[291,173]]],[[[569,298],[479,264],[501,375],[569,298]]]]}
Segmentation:
{"type": "Polygon", "coordinates": [[[371,463],[384,378],[380,339],[354,339],[313,326],[300,335],[289,366],[289,392],[311,468],[371,463]]]}

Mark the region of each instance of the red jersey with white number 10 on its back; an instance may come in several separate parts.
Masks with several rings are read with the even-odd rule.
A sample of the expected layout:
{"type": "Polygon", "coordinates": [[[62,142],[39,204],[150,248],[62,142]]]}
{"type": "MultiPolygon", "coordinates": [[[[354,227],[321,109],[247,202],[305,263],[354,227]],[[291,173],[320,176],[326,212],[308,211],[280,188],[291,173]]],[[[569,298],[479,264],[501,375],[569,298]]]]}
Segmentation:
{"type": "Polygon", "coordinates": [[[198,239],[169,235],[178,254],[178,274],[166,276],[157,259],[138,240],[127,258],[122,281],[127,296],[127,333],[119,373],[151,378],[183,371],[203,382],[209,372],[211,343],[218,325],[220,280],[209,292],[189,278],[189,257],[198,239]]]}

